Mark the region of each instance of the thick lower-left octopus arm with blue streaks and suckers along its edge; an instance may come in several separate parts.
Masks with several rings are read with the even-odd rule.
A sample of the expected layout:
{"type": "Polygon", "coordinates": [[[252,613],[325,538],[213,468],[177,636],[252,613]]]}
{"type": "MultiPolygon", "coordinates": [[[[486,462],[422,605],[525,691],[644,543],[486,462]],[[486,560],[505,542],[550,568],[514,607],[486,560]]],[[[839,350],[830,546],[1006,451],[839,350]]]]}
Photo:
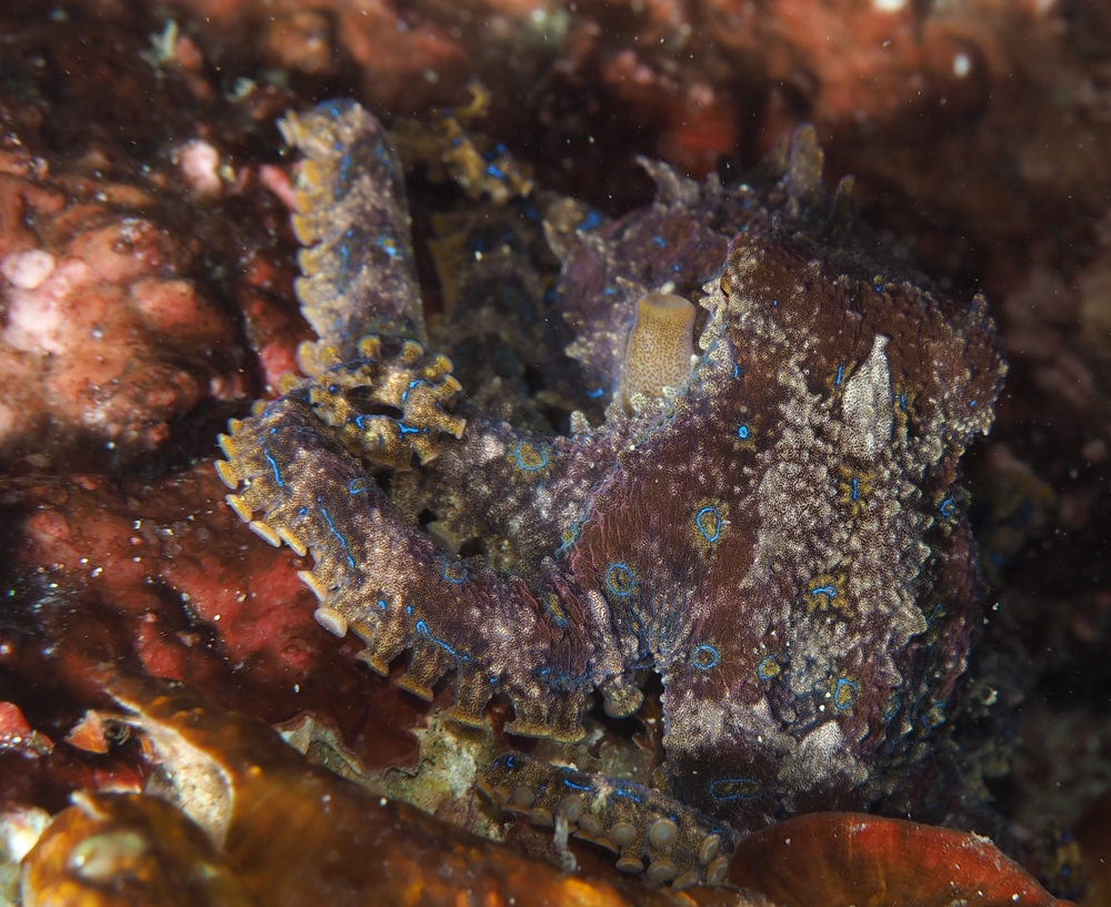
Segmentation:
{"type": "MultiPolygon", "coordinates": [[[[326,376],[327,377],[327,376],[326,376]]],[[[334,426],[321,421],[309,382],[221,436],[228,503],[272,544],[316,562],[302,580],[317,621],[367,643],[359,654],[387,675],[410,652],[399,685],[424,698],[454,674],[450,715],[481,724],[497,694],[513,702],[511,733],[578,739],[592,686],[589,612],[565,584],[540,599],[521,580],[471,570],[407,523],[334,426]],[[261,517],[256,514],[261,512],[261,517]]]]}

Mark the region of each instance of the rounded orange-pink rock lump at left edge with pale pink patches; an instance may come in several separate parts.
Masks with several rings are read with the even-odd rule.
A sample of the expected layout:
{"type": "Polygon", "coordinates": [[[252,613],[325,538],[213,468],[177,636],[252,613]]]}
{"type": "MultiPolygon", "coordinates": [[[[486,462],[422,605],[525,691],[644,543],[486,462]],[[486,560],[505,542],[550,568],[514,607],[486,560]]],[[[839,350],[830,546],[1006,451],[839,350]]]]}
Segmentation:
{"type": "Polygon", "coordinates": [[[118,468],[247,396],[236,327],[156,196],[44,170],[0,157],[0,462],[118,468]]]}

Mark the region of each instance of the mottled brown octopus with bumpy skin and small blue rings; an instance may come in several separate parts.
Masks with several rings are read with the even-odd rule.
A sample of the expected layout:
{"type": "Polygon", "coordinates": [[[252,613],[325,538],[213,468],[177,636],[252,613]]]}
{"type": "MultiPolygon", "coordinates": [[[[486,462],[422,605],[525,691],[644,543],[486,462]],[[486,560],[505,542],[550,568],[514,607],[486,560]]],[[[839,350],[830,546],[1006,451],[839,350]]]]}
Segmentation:
{"type": "Polygon", "coordinates": [[[311,552],[318,621],[354,632],[383,675],[410,652],[399,683],[419,696],[451,675],[460,723],[508,696],[523,736],[580,738],[594,691],[631,715],[657,672],[671,793],[717,817],[703,835],[863,808],[907,782],[979,623],[958,480],[1005,372],[984,300],[900,276],[855,224],[851,181],[824,194],[809,128],[752,185],[645,162],[652,205],[548,231],[569,353],[611,395],[604,422],[573,413],[569,435],[544,436],[461,403],[464,420],[450,362],[418,342],[381,128],[346,102],[290,123],[320,342],[309,379],[232,423],[219,465],[252,528],[311,552]],[[675,361],[638,342],[655,292],[704,310],[689,377],[659,396],[624,383],[652,363],[623,361],[675,361]],[[427,532],[390,496],[413,454],[427,532]],[[472,540],[484,557],[460,558],[472,540]]]}

